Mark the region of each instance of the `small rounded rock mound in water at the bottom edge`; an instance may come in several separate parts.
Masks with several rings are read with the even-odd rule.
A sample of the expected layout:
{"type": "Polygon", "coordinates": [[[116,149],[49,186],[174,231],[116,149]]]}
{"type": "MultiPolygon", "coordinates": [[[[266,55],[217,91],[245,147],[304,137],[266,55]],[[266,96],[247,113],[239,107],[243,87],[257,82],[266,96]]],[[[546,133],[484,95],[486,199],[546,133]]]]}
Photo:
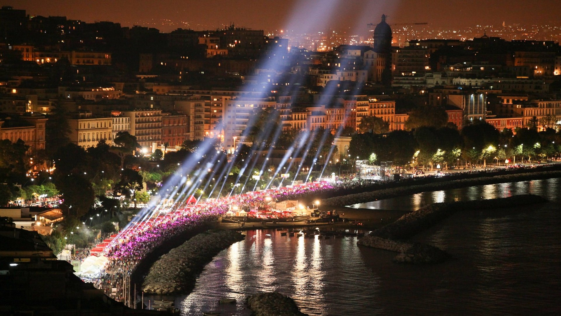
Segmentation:
{"type": "Polygon", "coordinates": [[[247,296],[246,304],[255,316],[307,316],[300,312],[293,299],[279,292],[247,296]]]}

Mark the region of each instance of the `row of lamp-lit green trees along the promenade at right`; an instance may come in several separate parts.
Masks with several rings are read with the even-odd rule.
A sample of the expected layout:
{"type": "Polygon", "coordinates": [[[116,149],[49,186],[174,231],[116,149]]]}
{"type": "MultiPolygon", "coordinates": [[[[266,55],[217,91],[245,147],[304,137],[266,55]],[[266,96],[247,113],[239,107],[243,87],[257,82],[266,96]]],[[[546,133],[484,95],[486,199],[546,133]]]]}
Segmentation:
{"type": "Polygon", "coordinates": [[[412,132],[396,130],[387,134],[359,133],[352,137],[351,157],[393,161],[395,165],[453,166],[459,160],[486,165],[518,159],[546,160],[559,156],[561,135],[554,129],[537,132],[535,128],[519,128],[501,132],[493,125],[479,121],[461,130],[451,127],[419,127],[412,132]]]}

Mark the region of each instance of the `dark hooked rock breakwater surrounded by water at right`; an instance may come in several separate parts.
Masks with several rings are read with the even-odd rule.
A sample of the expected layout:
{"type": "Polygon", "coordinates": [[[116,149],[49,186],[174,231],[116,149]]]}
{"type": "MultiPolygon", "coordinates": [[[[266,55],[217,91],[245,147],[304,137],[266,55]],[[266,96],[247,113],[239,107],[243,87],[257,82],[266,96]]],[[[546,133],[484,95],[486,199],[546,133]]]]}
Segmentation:
{"type": "Polygon", "coordinates": [[[440,263],[450,258],[447,252],[431,245],[404,240],[432,227],[457,211],[500,209],[546,201],[545,198],[537,195],[516,195],[491,200],[435,203],[407,213],[396,222],[376,229],[358,240],[357,245],[400,252],[394,258],[394,262],[397,263],[440,263]]]}

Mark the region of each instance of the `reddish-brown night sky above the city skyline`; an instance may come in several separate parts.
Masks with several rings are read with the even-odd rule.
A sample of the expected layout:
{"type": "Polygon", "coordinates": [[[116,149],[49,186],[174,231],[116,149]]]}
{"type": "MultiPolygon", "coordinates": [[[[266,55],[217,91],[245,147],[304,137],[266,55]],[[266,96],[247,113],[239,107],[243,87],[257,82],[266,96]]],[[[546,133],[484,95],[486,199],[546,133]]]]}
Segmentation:
{"type": "Polygon", "coordinates": [[[329,29],[363,31],[378,23],[429,22],[438,26],[559,24],[559,0],[0,0],[2,6],[30,15],[62,15],[68,19],[145,25],[162,31],[219,28],[233,22],[252,29],[293,29],[298,33],[329,29]],[[163,25],[165,20],[172,24],[163,25]]]}

